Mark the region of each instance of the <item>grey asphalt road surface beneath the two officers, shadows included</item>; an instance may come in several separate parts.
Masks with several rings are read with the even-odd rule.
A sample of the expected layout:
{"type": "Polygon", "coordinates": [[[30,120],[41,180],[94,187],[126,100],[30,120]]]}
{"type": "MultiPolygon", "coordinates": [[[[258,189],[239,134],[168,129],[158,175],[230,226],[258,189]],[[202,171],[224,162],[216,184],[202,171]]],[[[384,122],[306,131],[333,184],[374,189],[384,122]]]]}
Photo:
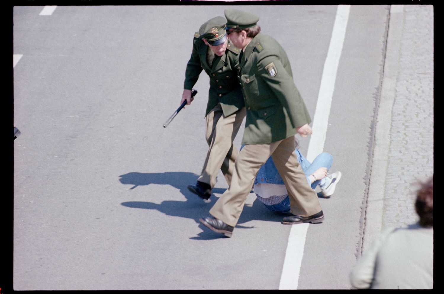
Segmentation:
{"type": "MultiPolygon", "coordinates": [[[[210,203],[186,188],[208,148],[204,72],[194,102],[163,128],[194,32],[226,8],[260,16],[313,118],[337,5],[14,7],[14,290],[280,288],[292,226],[250,193],[224,238],[198,222],[228,188],[222,173],[210,203]]],[[[342,178],[330,199],[319,193],[325,221],[291,248],[302,256],[297,289],[351,287],[389,13],[349,8],[323,146],[342,178]]],[[[309,141],[299,137],[304,154],[309,141]]]]}

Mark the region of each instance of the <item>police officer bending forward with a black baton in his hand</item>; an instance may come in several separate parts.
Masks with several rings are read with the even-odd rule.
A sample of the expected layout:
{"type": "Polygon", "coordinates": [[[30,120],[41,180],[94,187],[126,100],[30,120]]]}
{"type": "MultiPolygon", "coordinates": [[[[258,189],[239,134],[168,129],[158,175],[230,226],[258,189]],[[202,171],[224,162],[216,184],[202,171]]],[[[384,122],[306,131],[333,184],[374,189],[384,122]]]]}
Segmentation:
{"type": "MultiPolygon", "coordinates": [[[[194,34],[193,52],[186,65],[184,90],[180,103],[191,103],[191,89],[202,69],[210,77],[206,106],[206,141],[210,146],[195,185],[188,189],[208,200],[216,184],[219,170],[231,184],[234,161],[239,153],[233,140],[239,131],[246,110],[236,67],[240,50],[227,38],[226,19],[217,16],[208,20],[194,34]]],[[[251,188],[251,186],[250,186],[251,188]]]]}

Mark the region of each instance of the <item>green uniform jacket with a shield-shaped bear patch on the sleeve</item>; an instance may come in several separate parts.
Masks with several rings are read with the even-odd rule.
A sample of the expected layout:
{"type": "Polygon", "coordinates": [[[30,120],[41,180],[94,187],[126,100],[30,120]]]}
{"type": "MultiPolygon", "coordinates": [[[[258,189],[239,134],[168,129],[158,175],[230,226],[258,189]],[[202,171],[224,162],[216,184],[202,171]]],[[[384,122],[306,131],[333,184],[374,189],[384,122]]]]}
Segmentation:
{"type": "Polygon", "coordinates": [[[283,140],[311,122],[287,54],[276,40],[256,35],[246,46],[238,71],[247,108],[242,144],[283,140]]]}

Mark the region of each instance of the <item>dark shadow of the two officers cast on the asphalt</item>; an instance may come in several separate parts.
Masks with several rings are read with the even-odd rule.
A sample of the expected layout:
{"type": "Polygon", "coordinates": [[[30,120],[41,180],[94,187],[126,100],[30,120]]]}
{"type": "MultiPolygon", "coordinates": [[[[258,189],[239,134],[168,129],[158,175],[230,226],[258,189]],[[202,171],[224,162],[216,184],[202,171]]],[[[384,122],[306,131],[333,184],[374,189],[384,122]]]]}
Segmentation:
{"type": "MultiPolygon", "coordinates": [[[[206,228],[199,222],[199,218],[204,216],[210,216],[210,208],[218,200],[218,196],[214,194],[221,194],[225,192],[225,188],[214,188],[213,194],[211,195],[210,202],[204,202],[199,196],[190,192],[186,188],[190,184],[194,184],[198,176],[192,172],[153,172],[153,173],[142,173],[142,172],[129,172],[127,174],[120,176],[120,182],[122,184],[131,184],[134,189],[138,186],[144,186],[149,184],[168,184],[177,188],[183,196],[185,196],[186,201],[174,201],[165,200],[161,204],[147,202],[147,201],[127,201],[121,203],[123,206],[129,208],[143,208],[143,209],[155,209],[162,212],[168,216],[177,216],[193,219],[202,228],[202,233],[199,233],[199,237],[193,237],[190,239],[208,240],[208,239],[218,239],[221,234],[215,233],[210,229],[206,228]]],[[[239,218],[236,229],[250,229],[254,227],[243,226],[242,223],[247,223],[250,220],[265,220],[272,222],[281,222],[283,215],[271,212],[265,206],[262,205],[257,199],[254,200],[253,204],[245,205],[242,214],[239,218]]]]}

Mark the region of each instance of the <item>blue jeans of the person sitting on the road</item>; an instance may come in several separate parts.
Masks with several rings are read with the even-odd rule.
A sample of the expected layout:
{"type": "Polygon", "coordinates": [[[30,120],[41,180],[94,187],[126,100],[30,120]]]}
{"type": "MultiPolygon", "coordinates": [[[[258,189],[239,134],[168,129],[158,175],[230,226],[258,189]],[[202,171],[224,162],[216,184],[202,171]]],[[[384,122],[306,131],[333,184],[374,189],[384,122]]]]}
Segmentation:
{"type": "MultiPolygon", "coordinates": [[[[296,155],[297,155],[297,160],[299,161],[299,164],[301,165],[302,170],[305,173],[305,176],[307,177],[307,181],[310,184],[310,179],[309,176],[315,172],[317,169],[321,168],[321,167],[325,167],[327,170],[330,169],[330,167],[332,166],[333,163],[333,157],[326,152],[323,152],[321,154],[319,154],[312,163],[310,163],[302,154],[298,149],[295,149],[296,155]]],[[[277,176],[277,175],[271,175],[271,176],[277,176]]],[[[280,177],[280,176],[279,176],[280,177]]],[[[279,180],[276,180],[277,183],[272,183],[272,184],[280,184],[279,180]]],[[[321,180],[316,180],[313,182],[313,184],[311,184],[311,188],[314,190],[314,188],[316,188],[316,186],[321,182],[321,180]]],[[[290,199],[289,197],[285,197],[284,200],[282,200],[280,203],[278,204],[274,204],[274,205],[266,205],[264,204],[266,208],[272,210],[272,211],[277,211],[277,212],[289,212],[290,211],[290,199]]]]}

